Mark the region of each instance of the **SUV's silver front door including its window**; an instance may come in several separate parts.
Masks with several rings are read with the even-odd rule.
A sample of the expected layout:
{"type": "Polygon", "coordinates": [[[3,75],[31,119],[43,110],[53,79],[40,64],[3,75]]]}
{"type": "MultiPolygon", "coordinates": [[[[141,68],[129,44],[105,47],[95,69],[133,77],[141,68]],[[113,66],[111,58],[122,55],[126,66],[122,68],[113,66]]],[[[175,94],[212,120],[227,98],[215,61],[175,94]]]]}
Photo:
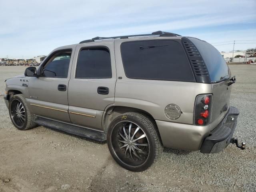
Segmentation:
{"type": "Polygon", "coordinates": [[[33,114],[64,122],[68,115],[68,82],[75,46],[52,52],[40,65],[39,77],[28,82],[28,100],[33,114]],[[72,51],[73,50],[73,51],[72,51]]]}

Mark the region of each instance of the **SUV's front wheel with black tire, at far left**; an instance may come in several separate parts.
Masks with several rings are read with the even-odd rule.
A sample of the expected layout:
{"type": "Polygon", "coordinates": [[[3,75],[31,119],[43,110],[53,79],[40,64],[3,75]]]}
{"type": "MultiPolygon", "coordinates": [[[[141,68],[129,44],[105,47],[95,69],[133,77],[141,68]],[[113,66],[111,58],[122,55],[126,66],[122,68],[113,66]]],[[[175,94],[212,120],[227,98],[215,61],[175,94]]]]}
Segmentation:
{"type": "MultiPolygon", "coordinates": [[[[22,111],[23,111],[23,108],[22,108],[22,111]]],[[[26,99],[22,94],[17,94],[10,98],[9,115],[12,120],[12,123],[18,130],[28,130],[36,127],[36,123],[34,123],[33,115],[31,114],[28,108],[28,105],[26,103],[26,99]],[[24,112],[21,119],[22,122],[19,120],[19,118],[15,118],[15,115],[16,115],[15,106],[19,104],[19,102],[22,104],[22,107],[24,108],[24,112]]]]}

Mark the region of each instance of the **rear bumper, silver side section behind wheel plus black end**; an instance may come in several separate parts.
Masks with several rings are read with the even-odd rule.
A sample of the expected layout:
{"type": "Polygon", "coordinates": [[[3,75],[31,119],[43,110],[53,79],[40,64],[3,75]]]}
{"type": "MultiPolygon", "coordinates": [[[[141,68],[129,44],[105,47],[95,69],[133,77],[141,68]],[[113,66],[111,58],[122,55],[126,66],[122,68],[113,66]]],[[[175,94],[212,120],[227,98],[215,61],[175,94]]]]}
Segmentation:
{"type": "Polygon", "coordinates": [[[156,120],[156,124],[165,147],[217,153],[228,146],[236,127],[238,114],[237,108],[230,107],[222,121],[213,130],[211,124],[195,126],[160,120],[156,120]]]}

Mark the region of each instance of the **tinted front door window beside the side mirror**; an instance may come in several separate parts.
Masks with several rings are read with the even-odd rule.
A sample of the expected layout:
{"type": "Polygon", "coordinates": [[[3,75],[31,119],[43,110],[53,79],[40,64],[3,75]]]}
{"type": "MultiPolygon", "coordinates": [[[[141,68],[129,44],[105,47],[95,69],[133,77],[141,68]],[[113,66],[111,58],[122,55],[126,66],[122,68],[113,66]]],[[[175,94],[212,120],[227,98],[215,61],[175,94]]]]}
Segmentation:
{"type": "Polygon", "coordinates": [[[52,55],[43,67],[42,76],[67,77],[71,52],[71,50],[64,50],[52,55]]]}

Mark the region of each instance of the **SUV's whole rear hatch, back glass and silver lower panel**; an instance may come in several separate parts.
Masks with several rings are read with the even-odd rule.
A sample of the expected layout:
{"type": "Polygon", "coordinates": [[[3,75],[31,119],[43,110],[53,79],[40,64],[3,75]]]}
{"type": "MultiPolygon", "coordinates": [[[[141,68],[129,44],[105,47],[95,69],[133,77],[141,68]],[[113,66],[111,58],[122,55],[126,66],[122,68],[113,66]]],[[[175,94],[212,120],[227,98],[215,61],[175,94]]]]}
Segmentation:
{"type": "Polygon", "coordinates": [[[188,39],[194,43],[208,69],[213,94],[211,125],[215,128],[230,108],[232,85],[228,86],[228,83],[231,73],[224,58],[214,46],[196,38],[188,39]]]}

